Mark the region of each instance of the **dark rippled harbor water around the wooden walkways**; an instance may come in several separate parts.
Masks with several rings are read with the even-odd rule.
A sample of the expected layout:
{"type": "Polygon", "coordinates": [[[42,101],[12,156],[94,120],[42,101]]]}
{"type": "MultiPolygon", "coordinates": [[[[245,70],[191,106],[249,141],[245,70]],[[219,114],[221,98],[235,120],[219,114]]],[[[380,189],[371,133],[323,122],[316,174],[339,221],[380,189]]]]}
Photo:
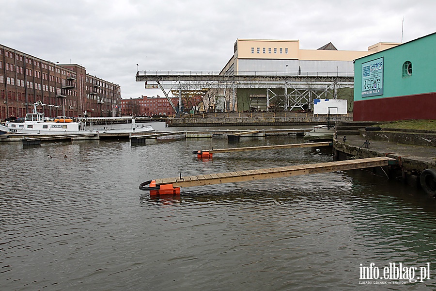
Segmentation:
{"type": "Polygon", "coordinates": [[[331,148],[192,154],[303,142],[0,144],[0,290],[435,290],[435,199],[399,181],[353,170],[180,197],[138,189],[154,178],[332,161],[331,148]],[[375,278],[400,263],[401,279],[375,278]]]}

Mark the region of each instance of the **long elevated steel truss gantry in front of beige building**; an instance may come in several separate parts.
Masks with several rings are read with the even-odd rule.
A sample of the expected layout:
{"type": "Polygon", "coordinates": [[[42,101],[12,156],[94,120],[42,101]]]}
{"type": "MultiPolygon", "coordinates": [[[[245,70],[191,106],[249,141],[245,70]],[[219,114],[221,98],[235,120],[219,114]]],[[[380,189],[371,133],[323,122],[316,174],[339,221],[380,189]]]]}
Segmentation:
{"type": "Polygon", "coordinates": [[[354,88],[354,76],[283,76],[260,73],[222,76],[214,72],[192,74],[192,72],[144,71],[137,73],[136,81],[144,81],[146,88],[156,88],[157,86],[150,82],[157,83],[165,95],[164,88],[177,88],[179,96],[183,88],[220,89],[224,92],[224,98],[228,93],[229,104],[231,104],[227,108],[228,111],[234,111],[236,108],[237,89],[265,89],[267,111],[273,106],[284,111],[292,111],[311,109],[315,98],[335,99],[340,88],[354,88]]]}

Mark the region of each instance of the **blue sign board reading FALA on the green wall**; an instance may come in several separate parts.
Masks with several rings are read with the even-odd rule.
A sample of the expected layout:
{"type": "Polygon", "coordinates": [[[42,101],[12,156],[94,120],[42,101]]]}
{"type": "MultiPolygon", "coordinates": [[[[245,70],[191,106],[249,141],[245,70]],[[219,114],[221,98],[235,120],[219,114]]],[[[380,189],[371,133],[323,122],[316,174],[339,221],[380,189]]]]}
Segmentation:
{"type": "Polygon", "coordinates": [[[383,95],[383,58],[362,64],[362,97],[383,95]]]}

